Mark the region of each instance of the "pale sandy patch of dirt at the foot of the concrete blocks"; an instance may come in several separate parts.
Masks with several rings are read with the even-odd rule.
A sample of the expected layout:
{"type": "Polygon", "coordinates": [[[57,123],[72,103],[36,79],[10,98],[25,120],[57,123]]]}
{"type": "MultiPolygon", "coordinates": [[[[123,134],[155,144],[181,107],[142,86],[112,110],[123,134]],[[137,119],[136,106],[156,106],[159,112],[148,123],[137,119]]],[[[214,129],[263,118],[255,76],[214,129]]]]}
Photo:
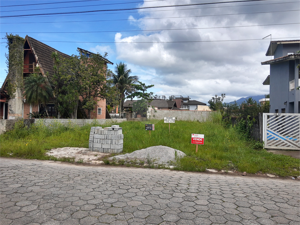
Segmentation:
{"type": "Polygon", "coordinates": [[[63,157],[74,158],[75,162],[83,160],[83,163],[90,163],[90,164],[103,163],[101,159],[107,155],[110,155],[109,153],[103,153],[103,152],[90,152],[86,148],[71,148],[71,147],[51,149],[46,154],[52,155],[56,158],[63,158],[63,157]]]}

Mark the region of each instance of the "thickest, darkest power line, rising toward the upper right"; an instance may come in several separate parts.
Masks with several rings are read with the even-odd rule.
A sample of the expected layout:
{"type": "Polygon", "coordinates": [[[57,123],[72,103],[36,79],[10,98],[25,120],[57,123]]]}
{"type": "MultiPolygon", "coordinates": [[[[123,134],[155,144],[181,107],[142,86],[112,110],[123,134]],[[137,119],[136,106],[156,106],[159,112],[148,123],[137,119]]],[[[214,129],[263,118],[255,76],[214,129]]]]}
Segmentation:
{"type": "Polygon", "coordinates": [[[59,14],[74,14],[74,13],[91,13],[91,12],[106,12],[106,11],[123,11],[123,10],[140,10],[140,9],[150,9],[150,8],[179,7],[179,6],[207,5],[207,4],[222,4],[222,3],[236,3],[236,2],[249,2],[249,1],[267,1],[267,0],[221,1],[221,2],[209,2],[209,3],[150,6],[150,7],[125,8],[125,9],[103,9],[103,10],[91,10],[91,11],[80,11],[80,12],[65,12],[65,13],[37,13],[37,14],[16,15],[16,16],[0,16],[0,18],[10,18],[10,17],[19,17],[19,16],[39,16],[39,15],[59,15],[59,14]]]}

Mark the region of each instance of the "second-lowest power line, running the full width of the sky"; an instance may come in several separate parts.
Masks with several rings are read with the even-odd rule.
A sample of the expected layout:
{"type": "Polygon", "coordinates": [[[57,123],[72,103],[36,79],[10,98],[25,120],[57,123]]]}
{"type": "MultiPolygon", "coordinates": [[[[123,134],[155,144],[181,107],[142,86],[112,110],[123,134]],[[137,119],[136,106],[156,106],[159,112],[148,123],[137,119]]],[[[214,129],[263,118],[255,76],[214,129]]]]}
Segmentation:
{"type": "Polygon", "coordinates": [[[178,29],[153,29],[153,30],[75,31],[75,32],[0,32],[0,33],[18,33],[18,34],[73,34],[73,33],[108,33],[108,32],[140,32],[140,31],[173,31],[173,30],[198,30],[198,29],[218,29],[218,28],[235,28],[235,27],[276,26],[276,25],[290,25],[290,24],[299,24],[299,23],[279,23],[279,24],[247,25],[247,26],[228,26],[228,27],[202,27],[202,28],[178,28],[178,29]]]}

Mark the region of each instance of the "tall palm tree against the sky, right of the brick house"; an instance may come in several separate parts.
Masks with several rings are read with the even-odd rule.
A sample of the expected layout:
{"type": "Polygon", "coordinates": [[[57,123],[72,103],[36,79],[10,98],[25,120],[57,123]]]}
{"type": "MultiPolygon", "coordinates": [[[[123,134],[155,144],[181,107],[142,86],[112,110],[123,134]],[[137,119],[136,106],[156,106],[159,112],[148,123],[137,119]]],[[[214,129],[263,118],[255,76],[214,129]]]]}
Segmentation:
{"type": "Polygon", "coordinates": [[[127,65],[123,62],[117,63],[115,67],[115,73],[112,74],[113,85],[120,91],[120,104],[121,104],[121,118],[123,119],[123,104],[125,95],[134,91],[133,84],[138,81],[137,76],[130,76],[131,70],[127,69],[127,65]]]}

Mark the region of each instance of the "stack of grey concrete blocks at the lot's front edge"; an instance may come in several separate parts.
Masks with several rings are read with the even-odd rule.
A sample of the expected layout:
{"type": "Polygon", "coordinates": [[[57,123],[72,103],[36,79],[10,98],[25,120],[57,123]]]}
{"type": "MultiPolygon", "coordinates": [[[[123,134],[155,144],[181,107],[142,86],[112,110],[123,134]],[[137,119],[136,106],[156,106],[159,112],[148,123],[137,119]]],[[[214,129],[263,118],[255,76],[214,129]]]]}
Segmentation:
{"type": "Polygon", "coordinates": [[[122,127],[91,127],[88,149],[91,152],[121,153],[123,152],[122,127]]]}

